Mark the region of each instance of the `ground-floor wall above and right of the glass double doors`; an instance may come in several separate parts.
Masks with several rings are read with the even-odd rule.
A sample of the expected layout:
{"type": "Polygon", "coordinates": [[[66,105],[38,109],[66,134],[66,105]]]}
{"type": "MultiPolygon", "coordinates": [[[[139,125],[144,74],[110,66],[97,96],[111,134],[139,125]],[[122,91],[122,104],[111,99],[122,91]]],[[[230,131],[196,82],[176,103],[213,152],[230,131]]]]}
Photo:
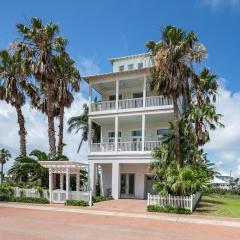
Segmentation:
{"type": "Polygon", "coordinates": [[[144,199],[145,175],[149,174],[149,166],[147,164],[121,164],[120,172],[135,174],[135,198],[144,199]]]}

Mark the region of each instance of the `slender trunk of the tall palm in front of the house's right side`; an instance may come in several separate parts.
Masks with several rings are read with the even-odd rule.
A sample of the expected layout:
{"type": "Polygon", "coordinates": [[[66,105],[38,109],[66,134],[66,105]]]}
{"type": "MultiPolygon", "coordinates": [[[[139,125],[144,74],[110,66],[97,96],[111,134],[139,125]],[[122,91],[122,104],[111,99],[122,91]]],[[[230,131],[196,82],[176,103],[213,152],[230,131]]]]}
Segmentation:
{"type": "Polygon", "coordinates": [[[177,97],[173,97],[173,118],[174,118],[174,131],[176,141],[176,161],[181,165],[180,162],[180,136],[179,136],[179,122],[178,122],[178,104],[177,97]]]}

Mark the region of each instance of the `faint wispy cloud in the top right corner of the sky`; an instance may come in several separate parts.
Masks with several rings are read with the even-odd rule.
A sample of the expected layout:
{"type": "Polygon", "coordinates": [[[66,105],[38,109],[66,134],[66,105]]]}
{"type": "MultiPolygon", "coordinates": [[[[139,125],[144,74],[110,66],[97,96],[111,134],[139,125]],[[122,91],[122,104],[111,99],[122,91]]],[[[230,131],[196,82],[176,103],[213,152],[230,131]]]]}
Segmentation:
{"type": "Polygon", "coordinates": [[[197,0],[197,4],[201,7],[210,7],[213,11],[220,7],[239,7],[240,0],[197,0]]]}

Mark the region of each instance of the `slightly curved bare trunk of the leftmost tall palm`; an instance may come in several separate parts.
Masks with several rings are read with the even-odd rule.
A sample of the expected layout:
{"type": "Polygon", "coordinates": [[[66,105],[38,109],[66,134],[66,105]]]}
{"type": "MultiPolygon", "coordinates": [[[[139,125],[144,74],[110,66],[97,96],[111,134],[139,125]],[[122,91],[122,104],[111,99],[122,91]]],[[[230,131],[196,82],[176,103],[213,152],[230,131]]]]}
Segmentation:
{"type": "Polygon", "coordinates": [[[20,156],[26,156],[26,135],[27,131],[25,129],[25,119],[22,113],[22,109],[19,105],[15,105],[16,111],[17,111],[17,119],[18,119],[18,125],[19,125],[19,137],[20,137],[20,156]]]}

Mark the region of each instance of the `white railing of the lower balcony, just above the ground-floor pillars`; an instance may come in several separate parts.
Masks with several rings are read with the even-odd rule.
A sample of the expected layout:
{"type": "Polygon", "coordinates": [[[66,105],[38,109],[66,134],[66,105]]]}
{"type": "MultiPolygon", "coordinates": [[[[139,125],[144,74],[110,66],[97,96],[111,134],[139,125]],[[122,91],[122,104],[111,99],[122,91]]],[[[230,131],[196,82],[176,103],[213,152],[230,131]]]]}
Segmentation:
{"type": "MultiPolygon", "coordinates": [[[[160,141],[144,142],[144,151],[152,151],[160,145],[160,141]]],[[[90,145],[91,152],[114,152],[114,143],[92,143],[90,145]]],[[[142,151],[142,142],[118,142],[118,152],[139,152],[142,151]]]]}

